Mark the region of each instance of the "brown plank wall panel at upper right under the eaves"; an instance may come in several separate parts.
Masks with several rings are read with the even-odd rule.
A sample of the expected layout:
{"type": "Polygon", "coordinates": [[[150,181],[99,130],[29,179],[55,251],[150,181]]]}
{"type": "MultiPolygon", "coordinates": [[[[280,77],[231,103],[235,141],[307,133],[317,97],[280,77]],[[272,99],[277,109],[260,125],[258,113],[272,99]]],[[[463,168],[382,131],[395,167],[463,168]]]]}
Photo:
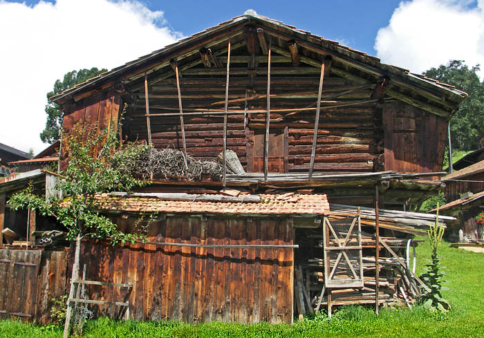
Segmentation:
{"type": "Polygon", "coordinates": [[[447,121],[404,103],[383,106],[385,170],[441,171],[447,121]]]}

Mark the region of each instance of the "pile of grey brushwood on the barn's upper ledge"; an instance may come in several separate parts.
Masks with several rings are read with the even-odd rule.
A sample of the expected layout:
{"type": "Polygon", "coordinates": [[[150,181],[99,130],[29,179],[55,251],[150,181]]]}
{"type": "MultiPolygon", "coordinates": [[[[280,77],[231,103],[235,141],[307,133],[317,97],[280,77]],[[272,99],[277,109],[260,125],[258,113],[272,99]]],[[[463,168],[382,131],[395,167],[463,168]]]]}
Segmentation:
{"type": "MultiPolygon", "coordinates": [[[[203,176],[221,178],[223,166],[216,160],[196,160],[183,151],[176,149],[154,149],[147,147],[140,153],[134,166],[133,174],[142,179],[152,178],[187,178],[188,180],[201,180],[203,176]]],[[[230,170],[227,168],[227,173],[230,170]]]]}

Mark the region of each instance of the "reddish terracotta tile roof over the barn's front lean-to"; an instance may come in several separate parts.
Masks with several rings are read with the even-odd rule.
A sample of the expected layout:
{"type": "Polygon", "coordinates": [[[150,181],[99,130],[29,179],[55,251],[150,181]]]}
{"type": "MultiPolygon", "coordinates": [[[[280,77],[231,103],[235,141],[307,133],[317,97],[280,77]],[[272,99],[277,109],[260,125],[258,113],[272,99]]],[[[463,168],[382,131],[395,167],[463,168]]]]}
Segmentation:
{"type": "MultiPolygon", "coordinates": [[[[198,195],[202,196],[202,195],[198,195]]],[[[213,195],[217,196],[217,195],[213,195]]],[[[220,196],[220,195],[218,195],[220,196]]],[[[256,195],[257,196],[257,195],[256,195]]],[[[328,215],[324,194],[259,194],[260,203],[163,200],[153,197],[97,196],[100,210],[186,214],[328,215]]],[[[226,196],[225,196],[226,197],[226,196]]]]}

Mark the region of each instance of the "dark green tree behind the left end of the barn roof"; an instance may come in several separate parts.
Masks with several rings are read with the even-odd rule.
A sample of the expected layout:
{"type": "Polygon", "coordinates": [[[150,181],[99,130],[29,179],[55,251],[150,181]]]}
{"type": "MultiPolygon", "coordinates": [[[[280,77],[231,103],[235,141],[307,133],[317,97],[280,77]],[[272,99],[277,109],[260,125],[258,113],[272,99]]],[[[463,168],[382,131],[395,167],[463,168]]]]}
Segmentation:
{"type": "Polygon", "coordinates": [[[99,75],[100,73],[106,72],[107,69],[80,69],[79,71],[71,71],[64,75],[64,80],[61,82],[57,79],[54,84],[53,91],[47,93],[48,104],[46,104],[46,128],[40,133],[40,139],[42,142],[53,144],[55,141],[59,140],[62,126],[62,112],[58,104],[50,102],[50,97],[60,94],[69,88],[72,88],[76,84],[80,84],[92,77],[99,75]]]}

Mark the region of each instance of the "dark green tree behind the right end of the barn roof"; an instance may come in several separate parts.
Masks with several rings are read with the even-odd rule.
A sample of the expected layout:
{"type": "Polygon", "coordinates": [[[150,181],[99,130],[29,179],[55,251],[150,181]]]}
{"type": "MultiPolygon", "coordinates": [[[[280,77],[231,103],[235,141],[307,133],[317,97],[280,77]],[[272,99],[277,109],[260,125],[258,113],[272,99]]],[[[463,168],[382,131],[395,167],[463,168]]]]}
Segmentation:
{"type": "Polygon", "coordinates": [[[479,65],[469,68],[464,61],[453,60],[423,73],[469,94],[450,120],[452,147],[455,149],[478,149],[479,140],[484,137],[484,83],[479,79],[478,71],[479,65]]]}

